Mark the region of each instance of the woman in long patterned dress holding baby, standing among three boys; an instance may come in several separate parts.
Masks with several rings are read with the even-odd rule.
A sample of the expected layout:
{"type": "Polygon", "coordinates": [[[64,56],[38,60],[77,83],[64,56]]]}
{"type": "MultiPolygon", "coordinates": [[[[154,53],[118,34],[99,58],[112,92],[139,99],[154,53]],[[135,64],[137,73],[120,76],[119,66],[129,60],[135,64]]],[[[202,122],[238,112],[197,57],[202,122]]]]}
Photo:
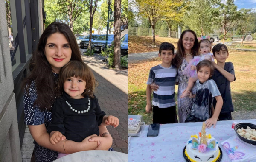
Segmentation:
{"type": "MultiPolygon", "coordinates": [[[[189,64],[189,61],[191,61],[194,56],[198,55],[200,55],[199,43],[195,32],[192,30],[183,31],[177,42],[177,52],[171,63],[178,68],[179,87],[177,100],[179,123],[185,122],[194,102],[193,98],[180,98],[180,95],[186,89],[189,81],[189,77],[185,73],[186,67],[189,64]]],[[[158,86],[151,84],[151,88],[156,90],[158,89],[158,86]]],[[[192,92],[195,92],[195,86],[193,87],[192,92]]]]}

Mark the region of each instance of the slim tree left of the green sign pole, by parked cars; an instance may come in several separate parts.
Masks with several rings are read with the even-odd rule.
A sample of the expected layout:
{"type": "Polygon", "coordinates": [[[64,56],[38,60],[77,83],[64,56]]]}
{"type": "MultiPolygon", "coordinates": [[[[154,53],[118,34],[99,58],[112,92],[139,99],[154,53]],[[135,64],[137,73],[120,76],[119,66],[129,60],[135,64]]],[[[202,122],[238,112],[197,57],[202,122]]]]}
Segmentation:
{"type": "Polygon", "coordinates": [[[92,42],[92,32],[93,32],[93,16],[95,14],[98,0],[86,0],[87,7],[89,8],[90,11],[90,36],[89,36],[89,45],[88,45],[88,50],[91,49],[91,42],[92,42]]]}

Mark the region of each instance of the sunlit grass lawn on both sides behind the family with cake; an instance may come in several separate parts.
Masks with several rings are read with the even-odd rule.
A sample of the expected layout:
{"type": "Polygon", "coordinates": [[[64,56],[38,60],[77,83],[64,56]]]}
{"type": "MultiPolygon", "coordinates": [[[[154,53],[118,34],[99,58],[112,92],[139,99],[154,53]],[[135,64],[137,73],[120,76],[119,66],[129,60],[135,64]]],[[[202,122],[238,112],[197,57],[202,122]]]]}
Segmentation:
{"type": "MultiPolygon", "coordinates": [[[[256,53],[237,50],[229,52],[227,61],[233,63],[236,74],[236,81],[231,83],[235,111],[253,111],[256,107],[256,53]]],[[[156,58],[128,64],[128,114],[143,115],[147,124],[152,123],[152,113],[145,113],[146,81],[150,68],[160,63],[161,60],[156,58]]],[[[177,89],[178,86],[175,87],[176,94],[177,89]]]]}

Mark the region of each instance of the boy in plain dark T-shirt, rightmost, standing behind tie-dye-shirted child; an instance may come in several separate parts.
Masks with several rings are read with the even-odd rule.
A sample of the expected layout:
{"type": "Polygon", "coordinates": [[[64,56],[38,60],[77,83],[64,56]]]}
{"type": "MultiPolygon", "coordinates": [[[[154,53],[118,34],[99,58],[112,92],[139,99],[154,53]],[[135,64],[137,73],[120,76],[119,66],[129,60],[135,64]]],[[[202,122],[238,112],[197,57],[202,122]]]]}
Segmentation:
{"type": "MultiPolygon", "coordinates": [[[[235,71],[232,62],[225,62],[229,56],[227,46],[224,44],[217,44],[212,48],[213,58],[217,60],[214,63],[214,74],[212,79],[216,82],[221,97],[223,99],[223,106],[218,117],[219,120],[232,120],[231,112],[234,111],[234,106],[231,98],[230,82],[235,81],[235,71]]],[[[216,100],[213,100],[213,107],[215,108],[216,100]]]]}

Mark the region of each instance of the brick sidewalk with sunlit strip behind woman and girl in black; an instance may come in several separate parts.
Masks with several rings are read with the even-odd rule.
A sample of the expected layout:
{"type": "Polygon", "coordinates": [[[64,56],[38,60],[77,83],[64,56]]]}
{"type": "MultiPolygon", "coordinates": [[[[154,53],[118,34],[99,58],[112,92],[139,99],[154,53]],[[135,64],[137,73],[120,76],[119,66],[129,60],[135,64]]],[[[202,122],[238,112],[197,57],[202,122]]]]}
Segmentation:
{"type": "MultiPolygon", "coordinates": [[[[99,105],[106,115],[114,115],[119,118],[119,126],[113,128],[107,126],[113,137],[112,148],[115,151],[128,154],[128,70],[110,70],[106,63],[102,62],[103,56],[82,56],[82,59],[93,70],[96,80],[99,82],[95,95],[99,99],[99,105]]],[[[26,128],[21,156],[23,162],[30,162],[34,149],[33,138],[26,128]]]]}

